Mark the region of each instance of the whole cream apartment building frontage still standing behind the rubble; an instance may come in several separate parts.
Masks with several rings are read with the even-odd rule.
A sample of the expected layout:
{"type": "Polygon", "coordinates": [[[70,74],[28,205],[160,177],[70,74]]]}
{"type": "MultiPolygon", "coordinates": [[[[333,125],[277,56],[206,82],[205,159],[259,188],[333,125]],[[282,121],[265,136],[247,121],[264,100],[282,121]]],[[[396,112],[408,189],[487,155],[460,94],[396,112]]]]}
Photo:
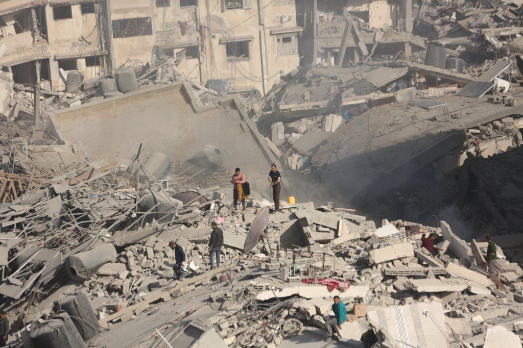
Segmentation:
{"type": "MultiPolygon", "coordinates": [[[[9,0],[0,4],[3,56],[15,83],[63,90],[123,65],[173,60],[195,83],[265,94],[299,65],[295,2],[289,0],[9,0]],[[285,16],[282,14],[286,14],[285,16]]],[[[147,65],[149,64],[149,65],[147,65]]]]}

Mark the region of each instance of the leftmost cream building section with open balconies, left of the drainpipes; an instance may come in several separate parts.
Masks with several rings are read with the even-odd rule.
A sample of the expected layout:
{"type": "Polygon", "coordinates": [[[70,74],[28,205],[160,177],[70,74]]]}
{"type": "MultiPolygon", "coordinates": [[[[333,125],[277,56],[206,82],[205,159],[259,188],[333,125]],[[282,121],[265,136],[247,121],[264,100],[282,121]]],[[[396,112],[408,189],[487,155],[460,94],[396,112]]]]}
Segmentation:
{"type": "Polygon", "coordinates": [[[63,90],[66,73],[95,78],[108,70],[105,2],[2,2],[3,56],[14,82],[63,90]]]}

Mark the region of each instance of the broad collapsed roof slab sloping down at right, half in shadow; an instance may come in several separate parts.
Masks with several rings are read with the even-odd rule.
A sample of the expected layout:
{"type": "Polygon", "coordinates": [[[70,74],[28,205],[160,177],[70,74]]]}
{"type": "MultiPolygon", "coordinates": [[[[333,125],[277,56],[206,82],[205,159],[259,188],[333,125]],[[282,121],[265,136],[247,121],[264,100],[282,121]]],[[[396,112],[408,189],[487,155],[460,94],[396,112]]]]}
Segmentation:
{"type": "Polygon", "coordinates": [[[340,126],[312,157],[317,175],[335,196],[357,203],[393,190],[408,177],[467,140],[464,128],[511,114],[523,106],[499,108],[486,98],[438,98],[444,109],[420,110],[404,103],[372,108],[340,126]],[[442,115],[458,114],[450,122],[442,115]],[[436,121],[434,121],[436,119],[436,121]]]}

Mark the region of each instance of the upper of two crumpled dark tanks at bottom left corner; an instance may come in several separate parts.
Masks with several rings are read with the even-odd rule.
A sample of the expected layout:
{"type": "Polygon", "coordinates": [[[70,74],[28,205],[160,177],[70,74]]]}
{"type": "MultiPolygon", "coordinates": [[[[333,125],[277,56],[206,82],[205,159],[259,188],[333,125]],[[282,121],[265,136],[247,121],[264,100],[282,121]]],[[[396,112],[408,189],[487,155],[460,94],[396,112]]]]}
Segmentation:
{"type": "Polygon", "coordinates": [[[78,291],[54,301],[53,311],[61,310],[69,314],[84,341],[92,339],[101,332],[98,318],[85,293],[78,291]]]}

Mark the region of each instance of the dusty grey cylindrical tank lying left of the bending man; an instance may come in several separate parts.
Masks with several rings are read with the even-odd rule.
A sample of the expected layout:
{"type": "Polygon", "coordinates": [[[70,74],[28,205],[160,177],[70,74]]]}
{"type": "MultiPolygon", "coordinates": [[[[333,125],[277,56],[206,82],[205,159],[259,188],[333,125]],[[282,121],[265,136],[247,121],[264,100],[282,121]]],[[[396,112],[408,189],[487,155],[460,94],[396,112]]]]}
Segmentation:
{"type": "Polygon", "coordinates": [[[103,264],[116,259],[116,249],[111,243],[103,243],[93,249],[71,255],[65,260],[65,269],[72,280],[85,282],[103,264]]]}

